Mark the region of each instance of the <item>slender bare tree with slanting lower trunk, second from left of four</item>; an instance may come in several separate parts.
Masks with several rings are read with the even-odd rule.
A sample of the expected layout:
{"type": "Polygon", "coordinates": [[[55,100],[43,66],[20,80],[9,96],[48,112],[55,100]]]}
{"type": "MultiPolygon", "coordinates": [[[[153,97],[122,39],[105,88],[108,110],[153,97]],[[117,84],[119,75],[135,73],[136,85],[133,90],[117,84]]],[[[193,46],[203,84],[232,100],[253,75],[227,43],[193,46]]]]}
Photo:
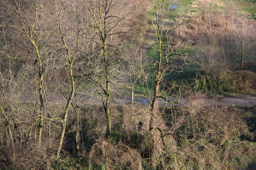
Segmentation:
{"type": "MultiPolygon", "coordinates": [[[[72,105],[72,100],[76,93],[76,81],[74,79],[74,66],[76,63],[76,58],[81,52],[81,36],[83,35],[84,28],[82,27],[83,15],[81,15],[79,4],[77,1],[62,2],[56,0],[54,2],[54,12],[44,8],[45,12],[51,17],[55,23],[54,33],[58,36],[60,42],[60,49],[63,51],[63,55],[67,58],[68,75],[69,75],[69,87],[70,91],[68,93],[67,104],[65,105],[62,129],[58,144],[58,150],[56,158],[60,157],[60,151],[63,144],[63,139],[65,135],[65,130],[67,127],[68,112],[72,105]],[[65,6],[72,6],[71,8],[64,8],[65,6]]],[[[81,10],[82,11],[82,10],[81,10]]],[[[78,117],[77,117],[78,118],[78,117]]]]}

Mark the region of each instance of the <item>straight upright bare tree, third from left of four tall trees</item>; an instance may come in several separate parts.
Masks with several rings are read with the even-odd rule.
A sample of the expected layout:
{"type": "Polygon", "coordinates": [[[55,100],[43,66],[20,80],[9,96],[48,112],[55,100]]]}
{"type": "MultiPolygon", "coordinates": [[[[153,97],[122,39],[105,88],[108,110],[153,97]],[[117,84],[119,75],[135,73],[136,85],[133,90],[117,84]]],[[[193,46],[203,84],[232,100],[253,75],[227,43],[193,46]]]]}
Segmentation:
{"type": "Polygon", "coordinates": [[[111,137],[111,112],[109,107],[111,99],[113,98],[112,88],[113,81],[117,75],[115,72],[118,65],[122,63],[122,56],[118,51],[118,37],[124,35],[125,20],[131,15],[128,1],[118,0],[97,0],[95,2],[84,0],[87,10],[92,17],[92,27],[97,36],[96,43],[99,44],[101,51],[95,56],[97,59],[95,70],[96,74],[88,75],[90,79],[98,88],[100,88],[100,96],[102,98],[102,105],[104,114],[106,116],[107,130],[106,138],[111,137]],[[102,62],[102,63],[101,63],[102,62]]]}

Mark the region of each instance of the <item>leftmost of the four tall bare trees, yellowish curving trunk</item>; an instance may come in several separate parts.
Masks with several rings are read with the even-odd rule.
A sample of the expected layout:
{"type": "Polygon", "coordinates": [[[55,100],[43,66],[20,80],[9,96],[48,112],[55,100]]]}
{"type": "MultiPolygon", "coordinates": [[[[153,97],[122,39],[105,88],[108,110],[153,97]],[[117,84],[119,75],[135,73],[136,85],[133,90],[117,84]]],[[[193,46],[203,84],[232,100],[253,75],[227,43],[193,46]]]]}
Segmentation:
{"type": "Polygon", "coordinates": [[[45,36],[44,27],[41,23],[38,26],[38,1],[15,1],[15,16],[19,22],[18,29],[28,38],[33,47],[33,54],[36,58],[36,72],[38,72],[38,97],[40,100],[39,118],[38,118],[38,138],[40,145],[42,138],[42,126],[45,116],[44,99],[44,60],[43,45],[40,43],[42,36],[45,36]],[[27,11],[28,10],[28,11],[27,11]],[[41,29],[41,30],[40,30],[41,29]]]}

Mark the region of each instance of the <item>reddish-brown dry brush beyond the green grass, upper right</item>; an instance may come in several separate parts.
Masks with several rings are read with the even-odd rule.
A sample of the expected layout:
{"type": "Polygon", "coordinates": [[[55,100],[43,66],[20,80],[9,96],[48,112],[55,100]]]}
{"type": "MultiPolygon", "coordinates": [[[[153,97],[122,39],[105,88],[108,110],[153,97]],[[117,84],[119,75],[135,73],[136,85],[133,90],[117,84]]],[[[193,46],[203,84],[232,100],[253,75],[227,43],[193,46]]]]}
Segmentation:
{"type": "Polygon", "coordinates": [[[194,4],[198,12],[175,30],[173,43],[191,42],[198,48],[193,61],[205,70],[230,68],[234,60],[240,60],[236,67],[255,61],[256,21],[240,12],[233,1],[209,2],[194,4]]]}

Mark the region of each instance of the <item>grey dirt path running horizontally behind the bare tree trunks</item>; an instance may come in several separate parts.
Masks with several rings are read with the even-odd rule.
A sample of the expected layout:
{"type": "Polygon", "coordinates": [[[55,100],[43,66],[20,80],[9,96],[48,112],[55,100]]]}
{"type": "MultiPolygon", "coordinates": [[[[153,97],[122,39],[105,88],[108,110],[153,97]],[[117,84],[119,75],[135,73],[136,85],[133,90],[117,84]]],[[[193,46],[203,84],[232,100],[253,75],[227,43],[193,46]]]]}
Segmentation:
{"type": "MultiPolygon", "coordinates": [[[[49,105],[65,105],[67,99],[63,95],[49,95],[49,105]]],[[[177,102],[177,98],[170,98],[172,102],[177,102]]],[[[35,97],[31,94],[22,94],[19,97],[19,101],[22,103],[34,103],[35,97]]],[[[89,97],[83,93],[78,93],[73,100],[78,105],[102,105],[100,98],[89,97]]],[[[130,97],[113,98],[113,105],[128,104],[131,102],[130,97]]],[[[160,103],[163,104],[163,100],[160,103]]],[[[134,103],[141,105],[148,105],[148,101],[145,98],[134,98],[134,103]]],[[[256,105],[256,97],[223,97],[223,98],[209,98],[209,97],[193,97],[193,98],[180,98],[180,104],[182,105],[202,105],[202,106],[254,106],[256,105]]],[[[170,105],[170,104],[168,104],[170,105]]],[[[175,104],[179,105],[179,104],[175,104]]]]}

